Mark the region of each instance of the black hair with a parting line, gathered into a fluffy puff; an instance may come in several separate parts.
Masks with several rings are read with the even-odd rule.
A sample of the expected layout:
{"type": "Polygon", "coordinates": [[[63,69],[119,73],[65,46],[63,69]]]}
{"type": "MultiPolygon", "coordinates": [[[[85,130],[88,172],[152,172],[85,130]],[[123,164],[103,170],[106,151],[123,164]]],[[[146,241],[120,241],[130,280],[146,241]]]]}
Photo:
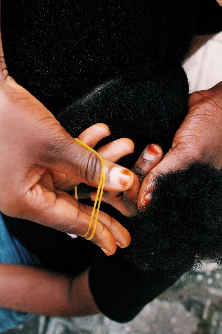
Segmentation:
{"type": "MultiPolygon", "coordinates": [[[[181,62],[193,17],[191,0],[5,1],[5,59],[18,83],[62,111],[57,118],[73,137],[104,122],[111,136],[103,143],[131,138],[134,154],[119,161],[130,168],[148,143],[166,153],[187,113],[181,62]]],[[[206,258],[221,264],[221,182],[220,171],[193,163],[158,177],[145,213],[101,209],[131,232],[123,254],[141,271],[183,272],[206,258]]]]}

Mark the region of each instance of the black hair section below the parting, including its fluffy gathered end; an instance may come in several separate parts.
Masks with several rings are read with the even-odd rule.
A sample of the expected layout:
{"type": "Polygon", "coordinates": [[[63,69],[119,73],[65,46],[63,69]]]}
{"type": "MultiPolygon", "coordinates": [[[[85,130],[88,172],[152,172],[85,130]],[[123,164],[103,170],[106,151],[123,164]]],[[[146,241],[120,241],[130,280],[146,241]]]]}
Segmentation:
{"type": "MultiPolygon", "coordinates": [[[[164,153],[187,111],[188,83],[180,65],[131,70],[96,87],[58,116],[73,136],[97,122],[109,125],[105,140],[129,137],[132,155],[119,163],[130,168],[144,147],[159,144],[164,153]],[[76,124],[76,119],[79,119],[76,124]]],[[[222,257],[222,175],[202,163],[158,178],[150,205],[131,218],[101,205],[131,234],[125,257],[142,271],[165,269],[170,275],[193,264],[222,257]]]]}

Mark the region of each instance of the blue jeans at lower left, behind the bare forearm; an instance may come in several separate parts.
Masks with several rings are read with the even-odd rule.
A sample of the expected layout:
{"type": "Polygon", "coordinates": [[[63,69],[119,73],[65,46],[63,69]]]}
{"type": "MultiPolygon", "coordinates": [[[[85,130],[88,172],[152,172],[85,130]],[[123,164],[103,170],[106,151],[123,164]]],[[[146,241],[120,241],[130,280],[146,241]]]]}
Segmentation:
{"type": "MultiPolygon", "coordinates": [[[[0,212],[0,263],[41,267],[37,257],[10,235],[0,212]]],[[[0,277],[1,279],[1,277],[0,277]]],[[[35,317],[33,314],[0,307],[0,333],[35,317]]]]}

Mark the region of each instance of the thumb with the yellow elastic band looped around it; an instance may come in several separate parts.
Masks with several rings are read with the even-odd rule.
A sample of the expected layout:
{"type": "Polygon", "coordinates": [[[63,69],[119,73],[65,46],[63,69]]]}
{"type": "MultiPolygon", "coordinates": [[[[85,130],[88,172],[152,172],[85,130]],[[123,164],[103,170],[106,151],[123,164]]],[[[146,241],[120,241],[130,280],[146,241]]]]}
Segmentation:
{"type": "MultiPolygon", "coordinates": [[[[40,147],[39,150],[44,152],[44,155],[41,153],[38,164],[50,170],[65,173],[79,182],[98,187],[101,175],[99,157],[77,143],[62,127],[59,130],[55,128],[56,125],[54,131],[48,132],[50,137],[47,137],[47,140],[41,138],[41,145],[44,143],[45,146],[40,147]]],[[[105,189],[124,191],[130,188],[134,179],[133,174],[128,169],[110,161],[105,160],[105,163],[107,171],[105,189]]]]}

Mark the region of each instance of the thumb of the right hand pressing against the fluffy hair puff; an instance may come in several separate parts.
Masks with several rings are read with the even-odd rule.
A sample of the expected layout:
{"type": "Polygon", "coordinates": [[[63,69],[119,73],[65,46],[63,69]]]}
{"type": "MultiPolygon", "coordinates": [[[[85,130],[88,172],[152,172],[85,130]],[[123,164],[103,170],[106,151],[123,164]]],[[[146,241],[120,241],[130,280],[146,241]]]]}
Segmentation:
{"type": "Polygon", "coordinates": [[[139,211],[144,211],[149,204],[152,192],[155,188],[155,179],[161,174],[170,171],[182,170],[186,168],[194,159],[194,152],[191,148],[181,147],[180,145],[171,148],[163,157],[163,159],[146,175],[141,184],[141,188],[137,198],[137,206],[139,211]]]}

